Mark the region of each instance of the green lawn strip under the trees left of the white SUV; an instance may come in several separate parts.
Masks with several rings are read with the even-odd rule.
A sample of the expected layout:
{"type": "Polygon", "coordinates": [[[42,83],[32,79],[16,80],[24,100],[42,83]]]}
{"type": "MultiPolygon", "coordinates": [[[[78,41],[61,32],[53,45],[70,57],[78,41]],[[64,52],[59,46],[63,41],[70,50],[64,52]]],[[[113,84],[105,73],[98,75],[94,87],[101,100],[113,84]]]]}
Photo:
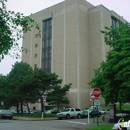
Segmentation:
{"type": "MultiPolygon", "coordinates": [[[[14,113],[14,116],[19,116],[19,117],[28,117],[28,118],[41,118],[42,114],[41,113],[14,113]]],[[[44,114],[45,118],[48,117],[56,117],[56,114],[44,114]]]]}

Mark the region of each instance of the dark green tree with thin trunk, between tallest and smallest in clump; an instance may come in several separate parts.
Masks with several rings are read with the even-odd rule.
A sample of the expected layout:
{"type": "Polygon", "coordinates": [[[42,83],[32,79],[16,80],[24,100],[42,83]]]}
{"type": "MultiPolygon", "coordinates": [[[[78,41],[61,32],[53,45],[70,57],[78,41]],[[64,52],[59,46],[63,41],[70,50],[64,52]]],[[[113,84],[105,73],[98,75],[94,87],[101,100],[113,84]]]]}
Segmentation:
{"type": "Polygon", "coordinates": [[[43,95],[54,88],[54,86],[61,84],[62,80],[58,79],[58,76],[55,73],[45,72],[41,68],[36,68],[34,70],[34,80],[33,86],[35,91],[41,99],[41,109],[43,111],[43,95]]]}

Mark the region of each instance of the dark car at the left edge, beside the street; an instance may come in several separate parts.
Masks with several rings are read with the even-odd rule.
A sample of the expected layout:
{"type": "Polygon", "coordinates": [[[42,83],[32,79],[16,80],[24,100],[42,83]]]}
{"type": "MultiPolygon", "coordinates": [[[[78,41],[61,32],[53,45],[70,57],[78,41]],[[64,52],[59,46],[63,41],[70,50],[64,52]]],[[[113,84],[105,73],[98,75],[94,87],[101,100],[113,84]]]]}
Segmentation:
{"type": "Polygon", "coordinates": [[[13,113],[10,110],[0,110],[0,118],[13,118],[13,113]]]}

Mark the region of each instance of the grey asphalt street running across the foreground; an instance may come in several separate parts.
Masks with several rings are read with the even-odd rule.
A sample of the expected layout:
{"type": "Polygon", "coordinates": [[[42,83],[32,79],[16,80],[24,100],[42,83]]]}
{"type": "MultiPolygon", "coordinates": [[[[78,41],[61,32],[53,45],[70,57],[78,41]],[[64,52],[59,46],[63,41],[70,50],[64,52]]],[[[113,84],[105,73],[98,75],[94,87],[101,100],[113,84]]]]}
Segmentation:
{"type": "Polygon", "coordinates": [[[0,119],[0,130],[85,130],[86,126],[87,118],[47,121],[0,119]]]}

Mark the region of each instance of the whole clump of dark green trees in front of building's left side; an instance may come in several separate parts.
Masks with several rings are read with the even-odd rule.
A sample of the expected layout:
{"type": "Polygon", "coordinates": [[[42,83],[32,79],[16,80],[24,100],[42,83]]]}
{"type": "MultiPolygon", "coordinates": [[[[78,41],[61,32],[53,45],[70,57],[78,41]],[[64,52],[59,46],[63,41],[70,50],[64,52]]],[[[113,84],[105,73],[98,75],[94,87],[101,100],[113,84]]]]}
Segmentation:
{"type": "MultiPolygon", "coordinates": [[[[4,101],[7,108],[16,106],[17,111],[19,104],[28,106],[28,103],[36,103],[41,99],[43,111],[43,95],[53,96],[56,105],[68,104],[69,100],[66,97],[71,84],[61,88],[61,79],[55,73],[47,73],[43,69],[32,67],[24,62],[16,62],[7,76],[0,75],[0,98],[4,101]],[[60,100],[58,101],[58,98],[60,100]]],[[[51,98],[51,96],[48,96],[51,98]]],[[[28,108],[29,109],[29,108],[28,108]]]]}

